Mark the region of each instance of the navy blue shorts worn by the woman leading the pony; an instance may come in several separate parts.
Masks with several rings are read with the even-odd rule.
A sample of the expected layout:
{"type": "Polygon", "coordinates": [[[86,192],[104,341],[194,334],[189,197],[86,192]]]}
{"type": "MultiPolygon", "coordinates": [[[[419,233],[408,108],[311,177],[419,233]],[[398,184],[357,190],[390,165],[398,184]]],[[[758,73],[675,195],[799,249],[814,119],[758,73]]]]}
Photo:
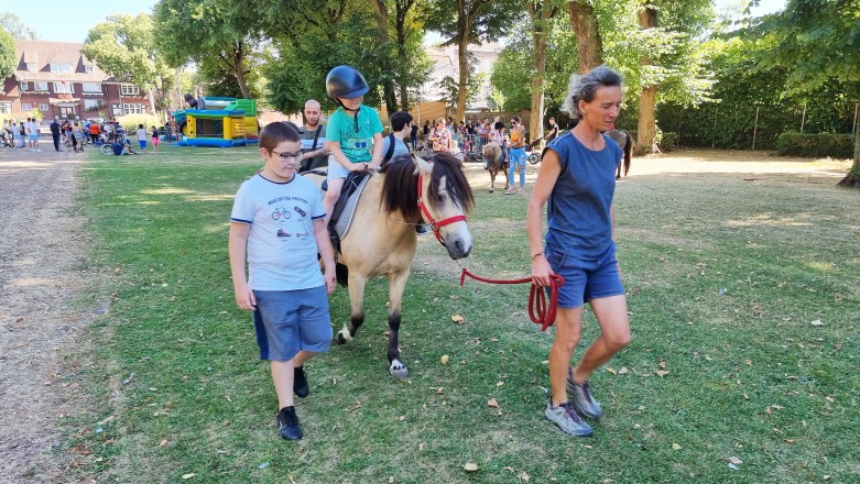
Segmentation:
{"type": "MultiPolygon", "coordinates": [[[[583,260],[546,248],[546,261],[553,272],[565,278],[558,288],[559,308],[578,308],[585,301],[624,294],[618,274],[616,243],[597,258],[583,260]]],[[[547,287],[547,296],[549,288],[547,287]]]]}

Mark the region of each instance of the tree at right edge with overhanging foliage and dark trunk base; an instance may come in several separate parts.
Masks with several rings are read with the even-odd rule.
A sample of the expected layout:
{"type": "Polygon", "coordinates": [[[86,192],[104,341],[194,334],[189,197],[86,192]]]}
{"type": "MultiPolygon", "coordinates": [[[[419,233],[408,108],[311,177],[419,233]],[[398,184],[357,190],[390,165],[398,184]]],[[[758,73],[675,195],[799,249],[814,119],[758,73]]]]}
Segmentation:
{"type": "MultiPolygon", "coordinates": [[[[759,68],[788,68],[785,87],[791,92],[838,86],[860,102],[860,0],[790,0],[783,12],[765,16],[748,33],[766,32],[776,42],[760,58],[759,68]]],[[[860,129],[856,130],[853,165],[841,185],[860,184],[860,129]]]]}

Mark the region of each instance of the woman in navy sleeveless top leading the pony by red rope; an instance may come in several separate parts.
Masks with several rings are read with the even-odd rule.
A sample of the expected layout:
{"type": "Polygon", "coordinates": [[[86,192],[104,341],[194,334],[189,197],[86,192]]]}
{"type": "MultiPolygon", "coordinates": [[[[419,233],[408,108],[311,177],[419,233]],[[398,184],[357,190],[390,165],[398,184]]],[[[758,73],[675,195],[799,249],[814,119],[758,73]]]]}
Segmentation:
{"type": "Polygon", "coordinates": [[[621,75],[606,66],[570,78],[565,110],[579,123],[544,150],[525,216],[532,280],[548,287],[551,275],[564,277],[549,351],[552,393],[544,415],[565,433],[580,437],[594,431],[581,417],[597,420],[602,415],[589,377],[630,344],[612,209],[621,148],[602,134],[618,118],[621,100],[621,75]],[[547,201],[544,241],[542,212],[547,201]],[[600,326],[600,337],[571,366],[586,301],[600,326]]]}

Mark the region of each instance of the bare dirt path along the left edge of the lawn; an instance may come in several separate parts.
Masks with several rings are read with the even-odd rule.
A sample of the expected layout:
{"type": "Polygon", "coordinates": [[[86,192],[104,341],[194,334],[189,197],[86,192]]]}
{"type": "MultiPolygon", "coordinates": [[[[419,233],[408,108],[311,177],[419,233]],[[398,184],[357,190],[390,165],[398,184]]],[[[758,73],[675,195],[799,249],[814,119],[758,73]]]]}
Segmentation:
{"type": "Polygon", "coordinates": [[[41,147],[0,148],[0,482],[72,481],[57,420],[80,398],[58,376],[90,321],[69,309],[86,240],[75,210],[83,155],[41,147]]]}

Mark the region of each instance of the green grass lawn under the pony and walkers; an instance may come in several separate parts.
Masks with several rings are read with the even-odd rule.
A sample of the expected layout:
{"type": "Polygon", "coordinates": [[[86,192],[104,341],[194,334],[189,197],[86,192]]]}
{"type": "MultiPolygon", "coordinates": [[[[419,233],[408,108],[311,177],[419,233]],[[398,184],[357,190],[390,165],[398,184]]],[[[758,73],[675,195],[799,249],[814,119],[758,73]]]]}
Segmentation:
{"type": "MultiPolygon", "coordinates": [[[[388,289],[372,283],[358,338],[306,365],[297,443],[276,436],[268,365],[229,277],[232,196],[260,165],[255,150],[90,153],[80,206],[89,268],[102,276],[87,289],[111,305],[76,376],[92,411],[65,420],[72,472],[98,482],[860,481],[860,195],[832,175],[848,166],[748,172],[751,160],[725,169],[720,152],[704,153],[636,158],[639,175],[618,185],[633,343],[592,376],[605,408],[592,438],[544,419],[553,330],[529,321],[527,286],[458,287],[459,265],[429,235],[403,305],[412,377],[388,375],[388,289]],[[672,169],[649,169],[660,164],[672,169]]],[[[475,249],[461,263],[526,274],[526,198],[490,195],[489,176],[469,173],[475,249]]],[[[331,312],[337,331],[349,316],[344,288],[331,312]]],[[[583,345],[596,337],[592,315],[584,326],[583,345]]]]}

